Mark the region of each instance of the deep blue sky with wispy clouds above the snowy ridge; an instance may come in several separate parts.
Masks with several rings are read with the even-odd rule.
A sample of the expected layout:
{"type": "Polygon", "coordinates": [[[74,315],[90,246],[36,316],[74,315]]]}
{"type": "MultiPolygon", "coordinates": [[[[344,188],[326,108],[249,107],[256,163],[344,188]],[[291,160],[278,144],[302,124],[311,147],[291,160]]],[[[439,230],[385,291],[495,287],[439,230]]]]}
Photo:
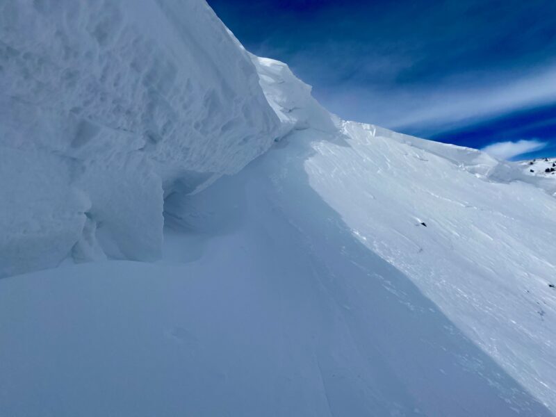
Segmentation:
{"type": "Polygon", "coordinates": [[[345,119],[476,148],[511,142],[505,158],[556,156],[555,0],[208,3],[345,119]]]}

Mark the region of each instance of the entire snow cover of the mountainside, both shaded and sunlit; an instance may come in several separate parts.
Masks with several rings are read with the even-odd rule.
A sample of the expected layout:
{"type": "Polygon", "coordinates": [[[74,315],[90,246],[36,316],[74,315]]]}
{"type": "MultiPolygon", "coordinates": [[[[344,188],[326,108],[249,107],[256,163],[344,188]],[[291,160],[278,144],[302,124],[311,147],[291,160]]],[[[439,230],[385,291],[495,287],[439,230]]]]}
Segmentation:
{"type": "Polygon", "coordinates": [[[339,120],[202,1],[0,8],[0,414],[555,413],[551,177],[339,120]]]}

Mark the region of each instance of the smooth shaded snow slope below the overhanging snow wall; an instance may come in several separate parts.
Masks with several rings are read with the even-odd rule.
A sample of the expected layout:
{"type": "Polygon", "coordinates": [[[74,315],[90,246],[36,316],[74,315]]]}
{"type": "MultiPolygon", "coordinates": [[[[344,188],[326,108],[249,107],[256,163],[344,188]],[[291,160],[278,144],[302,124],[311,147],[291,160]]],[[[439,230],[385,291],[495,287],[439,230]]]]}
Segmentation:
{"type": "Polygon", "coordinates": [[[0,281],[6,413],[550,415],[361,244],[296,139],[174,195],[161,262],[0,281]]]}

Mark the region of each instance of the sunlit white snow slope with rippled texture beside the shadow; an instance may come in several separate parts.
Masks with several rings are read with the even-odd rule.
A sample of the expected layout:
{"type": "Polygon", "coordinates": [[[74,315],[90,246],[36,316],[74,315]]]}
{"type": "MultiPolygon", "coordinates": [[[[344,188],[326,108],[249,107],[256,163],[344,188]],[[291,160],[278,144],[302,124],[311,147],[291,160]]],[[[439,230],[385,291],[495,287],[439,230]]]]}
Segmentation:
{"type": "Polygon", "coordinates": [[[472,174],[439,157],[442,149],[425,152],[372,126],[347,122],[342,133],[343,143],[312,142],[312,188],[363,245],[554,407],[555,199],[528,183],[472,174]]]}

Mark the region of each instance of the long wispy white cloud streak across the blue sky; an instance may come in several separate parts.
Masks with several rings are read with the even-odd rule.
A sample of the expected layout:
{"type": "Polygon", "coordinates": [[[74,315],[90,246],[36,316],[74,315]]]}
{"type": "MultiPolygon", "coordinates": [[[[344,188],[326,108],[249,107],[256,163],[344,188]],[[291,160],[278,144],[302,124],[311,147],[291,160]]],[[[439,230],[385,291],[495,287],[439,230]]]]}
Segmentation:
{"type": "MultiPolygon", "coordinates": [[[[469,76],[469,74],[468,74],[469,76]]],[[[468,77],[469,78],[469,77],[468,77]]],[[[374,90],[360,85],[317,89],[315,95],[333,113],[348,120],[378,124],[423,136],[470,121],[552,104],[556,101],[556,65],[515,77],[492,73],[477,81],[448,80],[435,85],[390,85],[374,90]]]]}

